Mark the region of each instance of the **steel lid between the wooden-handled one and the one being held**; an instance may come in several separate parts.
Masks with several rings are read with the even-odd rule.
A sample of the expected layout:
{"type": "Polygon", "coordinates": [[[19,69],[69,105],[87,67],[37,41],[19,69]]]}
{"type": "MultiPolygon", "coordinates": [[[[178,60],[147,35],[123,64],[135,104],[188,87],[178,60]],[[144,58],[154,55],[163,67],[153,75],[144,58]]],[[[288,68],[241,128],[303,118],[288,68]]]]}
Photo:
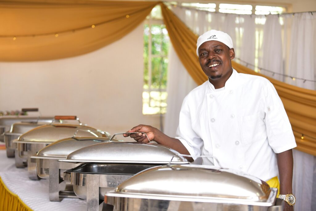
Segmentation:
{"type": "MultiPolygon", "coordinates": [[[[60,159],[66,158],[68,154],[87,147],[93,144],[98,144],[102,142],[108,142],[110,139],[105,137],[73,137],[65,138],[53,142],[45,148],[41,149],[37,155],[31,156],[31,158],[41,158],[41,159],[60,159]]],[[[112,140],[115,142],[123,142],[119,140],[112,140]]]]}

